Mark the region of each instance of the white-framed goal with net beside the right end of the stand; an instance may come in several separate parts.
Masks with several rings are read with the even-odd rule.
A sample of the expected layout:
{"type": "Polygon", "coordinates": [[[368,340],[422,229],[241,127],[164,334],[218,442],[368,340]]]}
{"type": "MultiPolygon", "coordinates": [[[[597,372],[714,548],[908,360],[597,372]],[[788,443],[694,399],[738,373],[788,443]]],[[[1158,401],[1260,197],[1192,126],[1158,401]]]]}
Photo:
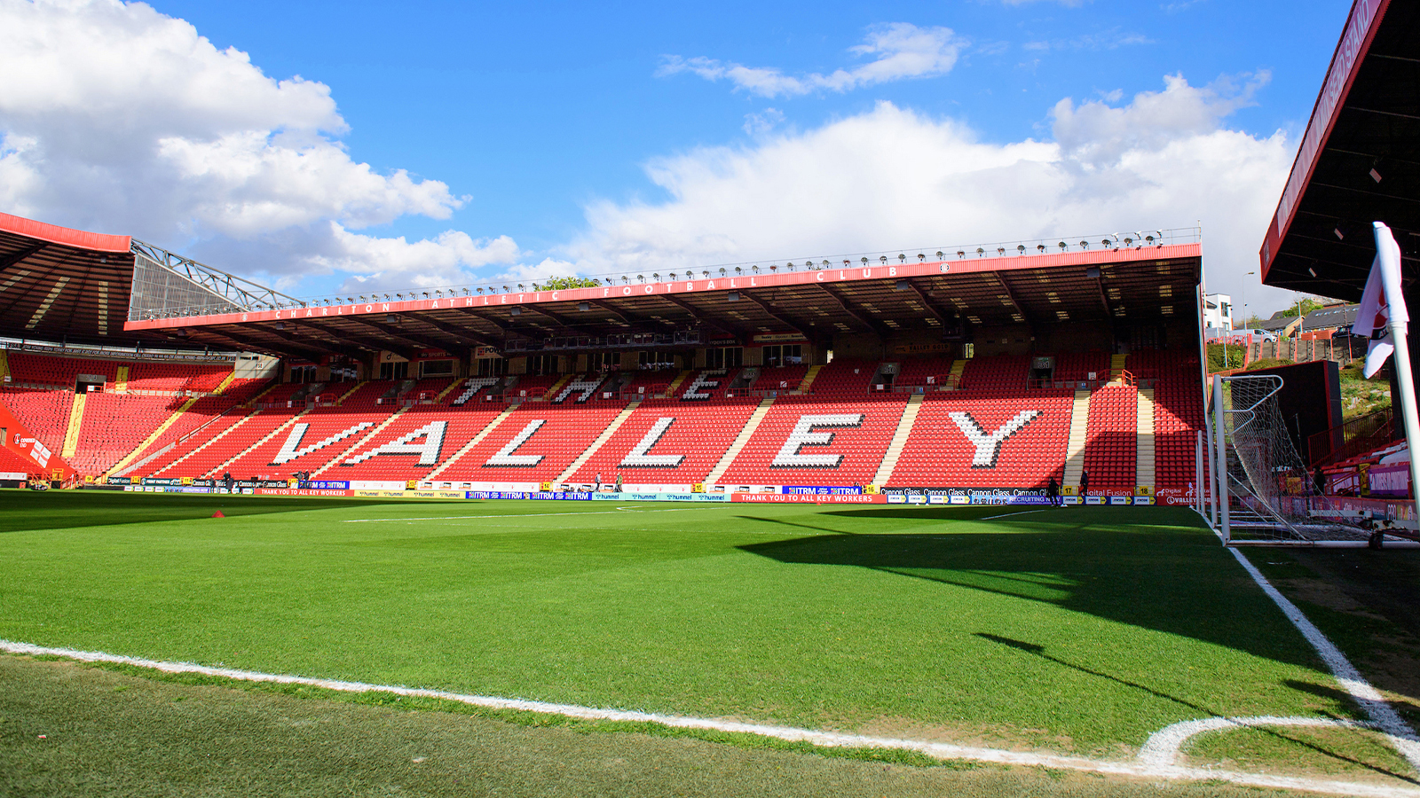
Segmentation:
{"type": "Polygon", "coordinates": [[[1360,528],[1311,514],[1311,480],[1278,403],[1282,378],[1216,378],[1214,432],[1221,427],[1218,510],[1228,542],[1365,540],[1360,528]]]}

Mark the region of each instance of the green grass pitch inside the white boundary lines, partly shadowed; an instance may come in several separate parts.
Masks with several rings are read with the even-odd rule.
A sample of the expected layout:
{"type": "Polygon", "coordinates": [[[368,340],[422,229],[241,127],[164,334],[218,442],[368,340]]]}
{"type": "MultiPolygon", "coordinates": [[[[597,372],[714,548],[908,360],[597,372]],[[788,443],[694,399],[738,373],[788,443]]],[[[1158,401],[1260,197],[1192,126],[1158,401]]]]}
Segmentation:
{"type": "Polygon", "coordinates": [[[1017,511],[4,491],[0,638],[1108,758],[1190,718],[1359,717],[1187,510],[1017,511]]]}

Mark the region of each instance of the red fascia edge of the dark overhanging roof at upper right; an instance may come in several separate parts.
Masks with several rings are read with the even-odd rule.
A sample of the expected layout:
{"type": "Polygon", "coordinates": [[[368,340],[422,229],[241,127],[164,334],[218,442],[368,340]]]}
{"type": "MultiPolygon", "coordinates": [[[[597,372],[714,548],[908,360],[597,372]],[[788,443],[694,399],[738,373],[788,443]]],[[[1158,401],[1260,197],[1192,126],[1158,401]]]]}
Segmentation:
{"type": "Polygon", "coordinates": [[[1331,65],[1326,68],[1326,80],[1322,81],[1322,91],[1312,106],[1312,118],[1306,122],[1306,133],[1302,135],[1302,146],[1296,151],[1296,160],[1292,162],[1292,172],[1287,176],[1287,186],[1282,189],[1282,199],[1277,203],[1277,213],[1272,214],[1272,224],[1262,239],[1262,248],[1258,260],[1262,264],[1262,283],[1267,283],[1267,273],[1277,260],[1277,251],[1287,237],[1292,219],[1296,216],[1296,203],[1308,183],[1312,182],[1312,172],[1316,169],[1316,158],[1326,146],[1332,128],[1340,116],[1340,109],[1346,105],[1350,87],[1356,81],[1356,65],[1365,61],[1370,44],[1380,30],[1380,20],[1386,16],[1390,0],[1356,0],[1346,17],[1346,27],[1342,28],[1340,41],[1332,54],[1331,65]]]}

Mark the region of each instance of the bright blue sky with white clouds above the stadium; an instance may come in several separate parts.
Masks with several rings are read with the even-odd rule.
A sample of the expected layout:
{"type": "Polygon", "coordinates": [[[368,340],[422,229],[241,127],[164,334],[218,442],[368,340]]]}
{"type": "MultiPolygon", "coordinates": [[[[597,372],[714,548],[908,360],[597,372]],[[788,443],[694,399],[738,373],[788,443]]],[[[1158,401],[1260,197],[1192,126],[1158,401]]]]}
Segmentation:
{"type": "MultiPolygon", "coordinates": [[[[11,30],[33,30],[37,47],[54,51],[92,35],[75,33],[85,26],[106,28],[115,47],[142,47],[179,20],[214,45],[189,43],[136,67],[55,58],[38,70],[41,84],[78,84],[75,104],[85,91],[133,94],[125,105],[153,109],[153,124],[118,121],[131,131],[115,142],[143,153],[126,163],[119,143],[112,153],[65,143],[61,129],[78,138],[75,108],[0,88],[0,183],[11,186],[0,187],[0,210],[133,233],[297,294],[1201,219],[1210,288],[1247,291],[1271,310],[1289,295],[1242,273],[1255,268],[1348,9],[1336,0],[159,1],[145,11],[0,0],[11,30]],[[910,58],[930,62],[873,72],[902,41],[910,58]],[[311,84],[244,94],[239,84],[254,78],[227,48],[271,81],[300,75],[328,87],[334,106],[304,91],[311,84]],[[737,85],[734,65],[771,80],[737,85]],[[129,68],[128,82],[102,71],[129,68]],[[192,89],[206,98],[148,88],[207,74],[216,77],[192,89]],[[223,108],[231,75],[236,121],[223,108]],[[1170,75],[1183,85],[1166,88],[1170,75]],[[1078,111],[1064,116],[1072,125],[1056,106],[1065,98],[1078,111]],[[213,145],[234,131],[261,139],[268,155],[320,158],[307,158],[308,180],[297,187],[278,169],[233,176],[230,165],[257,146],[213,145]],[[155,149],[160,158],[133,165],[155,149]],[[349,200],[361,165],[381,179],[406,170],[409,185],[365,185],[358,192],[368,196],[349,200]],[[125,190],[112,200],[75,196],[97,172],[125,190]],[[1034,179],[1049,189],[1032,192],[1034,179]],[[1120,187],[1130,180],[1153,190],[1120,187]],[[937,193],[903,200],[923,182],[937,193]],[[1213,182],[1227,185],[1213,190],[1213,182]],[[151,192],[135,195],[133,185],[151,192]],[[196,199],[178,199],[185,192],[196,199]],[[155,193],[172,202],[135,207],[155,193]],[[204,197],[220,202],[195,210],[204,197]],[[283,202],[317,210],[260,212],[283,202]],[[247,206],[240,220],[234,204],[247,206]],[[991,213],[974,214],[978,206],[991,213]]],[[[91,135],[104,129],[95,121],[91,135]]]]}

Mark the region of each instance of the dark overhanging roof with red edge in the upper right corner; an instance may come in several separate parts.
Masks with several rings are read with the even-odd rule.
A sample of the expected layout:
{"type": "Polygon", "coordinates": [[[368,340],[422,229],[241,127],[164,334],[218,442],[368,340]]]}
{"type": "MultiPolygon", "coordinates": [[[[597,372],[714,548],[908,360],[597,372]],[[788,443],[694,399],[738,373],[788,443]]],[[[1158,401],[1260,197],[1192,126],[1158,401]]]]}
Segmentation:
{"type": "Polygon", "coordinates": [[[1384,222],[1420,251],[1420,6],[1356,0],[1260,251],[1262,283],[1360,298],[1384,222]]]}

